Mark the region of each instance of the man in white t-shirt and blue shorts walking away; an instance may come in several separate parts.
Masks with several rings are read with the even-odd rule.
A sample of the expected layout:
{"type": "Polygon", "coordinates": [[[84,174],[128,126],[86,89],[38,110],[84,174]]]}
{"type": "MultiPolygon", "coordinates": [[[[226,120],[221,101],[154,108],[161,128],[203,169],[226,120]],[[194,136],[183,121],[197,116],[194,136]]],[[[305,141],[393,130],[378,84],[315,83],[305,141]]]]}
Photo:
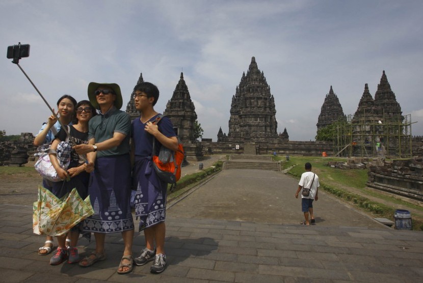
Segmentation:
{"type": "Polygon", "coordinates": [[[300,183],[298,183],[298,189],[295,193],[295,197],[298,199],[298,193],[301,191],[302,188],[310,188],[309,195],[305,196],[301,194],[301,207],[302,211],[304,212],[305,221],[301,222],[304,225],[310,225],[311,223],[315,222],[314,214],[313,214],[313,201],[319,200],[318,190],[320,187],[319,177],[311,172],[311,163],[305,163],[305,171],[301,175],[300,183]],[[308,220],[308,214],[310,214],[310,221],[308,220]]]}

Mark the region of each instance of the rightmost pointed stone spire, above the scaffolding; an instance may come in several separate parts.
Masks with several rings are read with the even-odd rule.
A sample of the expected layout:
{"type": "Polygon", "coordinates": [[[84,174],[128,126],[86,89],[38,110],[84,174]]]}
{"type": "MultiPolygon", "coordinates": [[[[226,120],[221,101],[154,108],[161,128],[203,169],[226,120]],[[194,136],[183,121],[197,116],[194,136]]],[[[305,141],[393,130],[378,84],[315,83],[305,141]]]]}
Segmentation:
{"type": "Polygon", "coordinates": [[[395,94],[391,90],[385,71],[382,73],[378,90],[375,94],[375,112],[381,120],[396,122],[402,122],[404,120],[400,103],[396,101],[395,94]]]}

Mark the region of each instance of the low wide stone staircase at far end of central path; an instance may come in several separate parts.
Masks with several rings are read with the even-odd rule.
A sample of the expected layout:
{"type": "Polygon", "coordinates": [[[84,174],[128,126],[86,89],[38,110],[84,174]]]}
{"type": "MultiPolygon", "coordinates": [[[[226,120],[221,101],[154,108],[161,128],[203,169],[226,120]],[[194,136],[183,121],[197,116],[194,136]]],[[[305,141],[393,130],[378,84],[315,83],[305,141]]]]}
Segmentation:
{"type": "Polygon", "coordinates": [[[273,162],[267,155],[231,155],[224,169],[255,169],[280,171],[280,163],[273,162]]]}

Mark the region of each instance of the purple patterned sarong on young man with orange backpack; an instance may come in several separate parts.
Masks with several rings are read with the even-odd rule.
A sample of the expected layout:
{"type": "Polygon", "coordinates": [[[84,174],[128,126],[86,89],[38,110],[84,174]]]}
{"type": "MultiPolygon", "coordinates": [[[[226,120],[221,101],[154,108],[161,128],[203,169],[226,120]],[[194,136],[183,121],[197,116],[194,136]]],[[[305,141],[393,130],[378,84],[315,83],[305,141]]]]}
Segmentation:
{"type": "Polygon", "coordinates": [[[165,221],[167,184],[155,174],[151,156],[135,156],[135,215],[140,218],[139,231],[165,221]]]}

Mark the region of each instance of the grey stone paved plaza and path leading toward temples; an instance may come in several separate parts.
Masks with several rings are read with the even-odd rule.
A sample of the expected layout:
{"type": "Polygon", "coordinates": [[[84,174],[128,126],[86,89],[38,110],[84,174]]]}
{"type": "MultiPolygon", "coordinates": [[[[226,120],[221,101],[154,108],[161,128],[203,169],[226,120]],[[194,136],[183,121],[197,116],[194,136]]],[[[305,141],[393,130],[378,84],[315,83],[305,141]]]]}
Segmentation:
{"type": "MultiPolygon", "coordinates": [[[[423,276],[423,233],[398,231],[323,191],[316,224],[300,225],[298,181],[280,172],[224,170],[167,212],[167,269],[150,264],[117,274],[123,242],[106,237],[108,259],[82,268],[48,264],[44,237],[32,232],[32,207],[0,205],[2,282],[416,282],[423,276]]],[[[22,196],[23,197],[23,196],[22,196]]],[[[137,225],[138,223],[136,223],[137,225]]],[[[134,255],[144,246],[136,233],[134,255]]],[[[55,240],[56,242],[56,240],[55,240]]],[[[95,247],[81,239],[80,253],[95,247]]]]}

